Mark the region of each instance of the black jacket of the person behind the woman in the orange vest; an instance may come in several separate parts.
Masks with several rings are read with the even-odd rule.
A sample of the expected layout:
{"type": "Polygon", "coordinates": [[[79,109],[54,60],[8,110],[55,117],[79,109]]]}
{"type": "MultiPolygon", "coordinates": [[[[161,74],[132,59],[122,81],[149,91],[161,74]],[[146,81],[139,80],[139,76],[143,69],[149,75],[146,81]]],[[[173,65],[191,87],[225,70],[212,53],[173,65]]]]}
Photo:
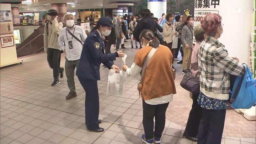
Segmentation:
{"type": "Polygon", "coordinates": [[[135,40],[137,42],[140,42],[140,33],[144,29],[149,29],[155,33],[156,28],[154,23],[156,24],[156,28],[159,30],[159,32],[162,33],[163,28],[156,21],[154,21],[153,18],[144,18],[138,22],[137,26],[133,31],[133,37],[135,38],[135,40]]]}

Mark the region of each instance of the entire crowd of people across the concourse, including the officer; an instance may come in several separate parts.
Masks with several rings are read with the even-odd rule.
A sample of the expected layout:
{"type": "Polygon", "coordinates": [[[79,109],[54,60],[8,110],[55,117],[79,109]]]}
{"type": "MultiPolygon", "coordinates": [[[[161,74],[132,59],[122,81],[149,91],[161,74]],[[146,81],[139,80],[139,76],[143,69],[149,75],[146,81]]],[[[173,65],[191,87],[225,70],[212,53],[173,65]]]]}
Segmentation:
{"type": "Polygon", "coordinates": [[[230,57],[224,45],[218,41],[223,33],[219,14],[207,14],[201,25],[194,28],[193,17],[186,14],[174,18],[172,13],[168,13],[157,19],[146,9],[139,17],[114,15],[113,20],[101,17],[88,36],[80,26],[75,25],[72,14],[65,15],[65,28],[62,28],[63,24],[57,21],[57,17],[55,10],[48,11],[49,22],[45,25],[44,34],[47,60],[53,69],[52,86],[60,84],[59,75],[63,76],[60,54],[64,52],[70,90],[66,99],[76,97],[76,68],[76,76],[86,94],[85,124],[88,130],[104,131],[99,126],[102,121],[98,119],[97,81],[100,80],[100,64],[114,69],[116,73],[120,72],[114,60],[124,57],[124,42],[131,38],[131,48],[135,41],[135,47],[139,48],[139,43],[140,50],[132,66],[128,68],[124,65],[122,70],[130,76],[141,75],[138,84],[143,106],[144,134],[141,140],[146,144],[161,143],[165,112],[176,94],[173,63],[178,61],[180,51],[182,60],[178,63],[182,64],[182,73],[191,73],[200,80],[200,92],[191,93],[193,104],[183,137],[197,141],[197,144],[221,143],[228,108],[230,75],[242,76],[245,68],[238,58],[230,57]],[[193,35],[196,39],[194,47],[193,35]],[[172,48],[173,37],[178,37],[177,48],[172,48]],[[113,53],[110,51],[112,44],[116,47],[113,53]]]}

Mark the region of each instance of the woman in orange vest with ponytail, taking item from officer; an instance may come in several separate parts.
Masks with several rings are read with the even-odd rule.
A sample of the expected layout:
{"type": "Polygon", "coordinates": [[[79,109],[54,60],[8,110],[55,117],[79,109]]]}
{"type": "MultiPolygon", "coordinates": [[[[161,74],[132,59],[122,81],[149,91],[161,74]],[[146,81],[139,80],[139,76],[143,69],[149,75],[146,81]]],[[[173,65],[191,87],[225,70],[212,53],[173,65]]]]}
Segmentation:
{"type": "Polygon", "coordinates": [[[151,30],[145,29],[140,34],[140,49],[134,58],[131,68],[123,66],[130,76],[141,72],[139,93],[142,98],[143,120],[145,134],[141,140],[146,144],[161,143],[165,126],[165,112],[176,94],[172,75],[172,52],[159,40],[151,30]],[[154,130],[155,117],[155,130],[154,130]]]}

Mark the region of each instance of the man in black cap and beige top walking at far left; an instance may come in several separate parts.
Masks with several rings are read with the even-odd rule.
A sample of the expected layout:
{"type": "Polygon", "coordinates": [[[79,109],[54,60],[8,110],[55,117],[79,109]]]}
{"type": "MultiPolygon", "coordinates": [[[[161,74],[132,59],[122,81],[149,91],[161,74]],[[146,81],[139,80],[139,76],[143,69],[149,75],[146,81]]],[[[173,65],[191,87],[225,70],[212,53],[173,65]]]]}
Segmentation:
{"type": "Polygon", "coordinates": [[[58,43],[59,32],[63,24],[58,22],[57,18],[57,11],[49,10],[46,16],[48,22],[44,27],[44,51],[47,52],[49,66],[53,69],[54,81],[52,86],[60,84],[59,75],[60,78],[62,78],[64,71],[64,68],[60,68],[61,48],[60,44],[58,43]]]}

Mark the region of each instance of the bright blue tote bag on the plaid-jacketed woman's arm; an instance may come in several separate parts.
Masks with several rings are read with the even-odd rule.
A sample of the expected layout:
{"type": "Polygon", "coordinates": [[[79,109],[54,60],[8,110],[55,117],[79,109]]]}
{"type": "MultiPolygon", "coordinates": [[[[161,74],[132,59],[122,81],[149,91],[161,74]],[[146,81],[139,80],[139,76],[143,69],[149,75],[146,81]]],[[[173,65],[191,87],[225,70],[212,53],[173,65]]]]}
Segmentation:
{"type": "MultiPolygon", "coordinates": [[[[245,64],[244,64],[245,65],[245,64]]],[[[236,76],[232,91],[230,91],[230,104],[232,108],[251,108],[256,103],[256,80],[253,79],[249,67],[246,65],[243,76],[236,76]]]]}

